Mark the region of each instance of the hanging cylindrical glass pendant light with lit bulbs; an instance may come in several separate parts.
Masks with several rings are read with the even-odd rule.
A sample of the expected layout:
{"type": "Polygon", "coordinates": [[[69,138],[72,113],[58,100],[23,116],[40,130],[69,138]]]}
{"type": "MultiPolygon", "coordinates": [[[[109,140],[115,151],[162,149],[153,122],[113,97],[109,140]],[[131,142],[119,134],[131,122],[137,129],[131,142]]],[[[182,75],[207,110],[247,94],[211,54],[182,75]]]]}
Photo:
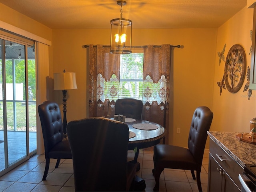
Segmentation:
{"type": "Polygon", "coordinates": [[[123,18],[122,7],[126,1],[117,1],[121,6],[120,18],[110,20],[110,53],[130,54],[132,53],[132,20],[123,18]]]}

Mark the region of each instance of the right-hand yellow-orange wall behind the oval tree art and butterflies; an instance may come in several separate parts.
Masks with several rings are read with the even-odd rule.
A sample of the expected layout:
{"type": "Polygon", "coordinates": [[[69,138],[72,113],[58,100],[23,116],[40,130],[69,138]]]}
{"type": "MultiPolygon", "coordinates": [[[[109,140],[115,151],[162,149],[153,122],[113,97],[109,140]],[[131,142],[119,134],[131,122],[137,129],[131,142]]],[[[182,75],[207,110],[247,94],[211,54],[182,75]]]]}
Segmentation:
{"type": "MultiPolygon", "coordinates": [[[[217,82],[222,79],[224,74],[225,62],[221,62],[219,66],[219,57],[217,52],[223,49],[225,61],[228,51],[234,44],[240,44],[246,53],[247,66],[251,63],[250,47],[252,40],[250,39],[250,30],[252,30],[253,9],[243,8],[230,20],[225,22],[218,28],[217,49],[215,52],[215,76],[214,76],[214,94],[213,107],[214,122],[212,130],[216,131],[234,131],[234,132],[249,132],[250,120],[256,117],[256,96],[255,90],[252,91],[252,96],[248,100],[248,90],[243,92],[244,85],[247,80],[245,77],[242,88],[237,93],[230,93],[227,89],[222,89],[220,96],[220,87],[217,82]]],[[[246,72],[247,72],[246,66],[246,72]]]]}

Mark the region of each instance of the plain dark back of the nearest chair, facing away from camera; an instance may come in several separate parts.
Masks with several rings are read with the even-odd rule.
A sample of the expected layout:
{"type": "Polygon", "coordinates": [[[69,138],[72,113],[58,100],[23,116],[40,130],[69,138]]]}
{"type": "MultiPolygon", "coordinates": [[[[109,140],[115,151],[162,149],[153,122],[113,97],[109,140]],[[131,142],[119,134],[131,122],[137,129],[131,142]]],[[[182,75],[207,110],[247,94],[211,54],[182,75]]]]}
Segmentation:
{"type": "Polygon", "coordinates": [[[129,128],[102,117],[68,122],[76,191],[125,191],[129,128]]]}

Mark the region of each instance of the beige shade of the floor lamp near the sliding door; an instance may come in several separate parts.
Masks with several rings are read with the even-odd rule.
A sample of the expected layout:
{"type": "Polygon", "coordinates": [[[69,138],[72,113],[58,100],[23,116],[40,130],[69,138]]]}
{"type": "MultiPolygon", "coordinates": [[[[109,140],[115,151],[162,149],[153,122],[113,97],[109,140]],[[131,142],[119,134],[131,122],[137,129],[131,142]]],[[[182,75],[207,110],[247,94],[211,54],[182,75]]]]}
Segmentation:
{"type": "Polygon", "coordinates": [[[77,89],[76,73],[54,73],[54,90],[77,89]]]}

